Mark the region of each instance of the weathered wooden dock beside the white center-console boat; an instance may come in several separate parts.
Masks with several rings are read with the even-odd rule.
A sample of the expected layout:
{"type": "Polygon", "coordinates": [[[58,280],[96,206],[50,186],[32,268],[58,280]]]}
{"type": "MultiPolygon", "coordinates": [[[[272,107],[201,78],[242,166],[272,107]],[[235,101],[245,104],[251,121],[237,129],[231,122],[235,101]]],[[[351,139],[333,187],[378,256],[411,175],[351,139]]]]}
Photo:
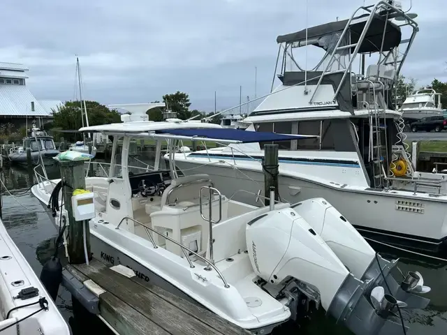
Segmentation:
{"type": "Polygon", "coordinates": [[[100,286],[99,315],[119,334],[251,334],[137,276],[119,274],[100,260],[67,265],[66,270],[87,287],[100,286]]]}

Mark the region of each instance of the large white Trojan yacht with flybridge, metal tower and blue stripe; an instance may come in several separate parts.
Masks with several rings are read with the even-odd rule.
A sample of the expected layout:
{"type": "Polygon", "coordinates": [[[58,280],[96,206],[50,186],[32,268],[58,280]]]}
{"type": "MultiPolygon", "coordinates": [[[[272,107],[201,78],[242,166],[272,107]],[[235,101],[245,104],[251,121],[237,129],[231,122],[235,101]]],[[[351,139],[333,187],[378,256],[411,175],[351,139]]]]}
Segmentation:
{"type": "MultiPolygon", "coordinates": [[[[402,9],[379,1],[348,20],[278,36],[281,84],[244,121],[253,124],[246,131],[318,135],[278,143],[283,200],[323,197],[366,237],[444,252],[446,174],[416,171],[402,113],[391,103],[417,31],[402,9]],[[411,29],[407,39],[402,25],[411,29]],[[294,58],[305,45],[325,51],[313,70],[300,70],[294,58]],[[369,54],[377,62],[366,66],[369,54]]],[[[231,144],[176,154],[175,163],[185,174],[210,174],[231,195],[240,188],[263,192],[263,156],[262,143],[231,144]]],[[[254,204],[244,193],[234,199],[254,204]]]]}

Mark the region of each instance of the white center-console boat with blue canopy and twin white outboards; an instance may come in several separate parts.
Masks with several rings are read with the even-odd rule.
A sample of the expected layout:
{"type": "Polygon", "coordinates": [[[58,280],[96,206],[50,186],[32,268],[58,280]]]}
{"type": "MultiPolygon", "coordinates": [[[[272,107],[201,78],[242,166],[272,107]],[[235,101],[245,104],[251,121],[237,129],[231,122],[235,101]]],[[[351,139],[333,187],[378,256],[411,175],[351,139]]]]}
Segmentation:
{"type": "MultiPolygon", "coordinates": [[[[270,195],[269,206],[252,206],[223,195],[208,174],[184,176],[175,168],[177,142],[183,140],[242,145],[314,136],[133,117],[141,116],[80,130],[113,136],[112,159],[103,168],[107,175],[85,179],[95,196],[96,216],[89,221],[94,257],[130,267],[142,281],[254,334],[270,334],[284,322],[300,320],[308,315],[306,306],[321,306],[355,334],[396,334],[406,329],[397,310],[427,306],[428,299],[414,295],[430,290],[422,276],[409,273],[397,283],[390,276],[396,261],[376,255],[323,198],[291,204],[274,202],[270,195]],[[134,139],[155,140],[152,169],[136,165],[129,153],[134,139]],[[165,141],[167,169],[160,165],[165,141]]],[[[61,207],[60,180],[36,177],[31,191],[43,206],[50,204],[55,225],[71,224],[61,207]]]]}

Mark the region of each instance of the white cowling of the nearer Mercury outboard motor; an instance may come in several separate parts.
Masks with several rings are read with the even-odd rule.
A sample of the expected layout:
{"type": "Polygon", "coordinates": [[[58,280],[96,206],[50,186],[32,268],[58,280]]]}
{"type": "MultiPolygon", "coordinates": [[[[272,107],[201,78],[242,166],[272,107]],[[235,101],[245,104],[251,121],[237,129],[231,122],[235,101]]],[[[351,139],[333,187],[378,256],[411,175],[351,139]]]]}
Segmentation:
{"type": "Polygon", "coordinates": [[[249,222],[246,239],[258,276],[268,283],[293,277],[316,287],[326,311],[349,276],[325,241],[291,208],[270,211],[249,222]]]}

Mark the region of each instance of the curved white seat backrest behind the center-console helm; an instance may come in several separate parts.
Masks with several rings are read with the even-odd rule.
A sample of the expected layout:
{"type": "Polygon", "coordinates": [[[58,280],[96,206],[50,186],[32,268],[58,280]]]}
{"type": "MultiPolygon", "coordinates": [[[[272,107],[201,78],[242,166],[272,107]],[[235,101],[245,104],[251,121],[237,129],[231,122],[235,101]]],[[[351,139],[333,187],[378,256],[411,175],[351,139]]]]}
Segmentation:
{"type": "Polygon", "coordinates": [[[200,188],[203,186],[213,186],[208,174],[193,174],[192,176],[173,179],[166,190],[163,191],[160,206],[198,199],[200,188]]]}

